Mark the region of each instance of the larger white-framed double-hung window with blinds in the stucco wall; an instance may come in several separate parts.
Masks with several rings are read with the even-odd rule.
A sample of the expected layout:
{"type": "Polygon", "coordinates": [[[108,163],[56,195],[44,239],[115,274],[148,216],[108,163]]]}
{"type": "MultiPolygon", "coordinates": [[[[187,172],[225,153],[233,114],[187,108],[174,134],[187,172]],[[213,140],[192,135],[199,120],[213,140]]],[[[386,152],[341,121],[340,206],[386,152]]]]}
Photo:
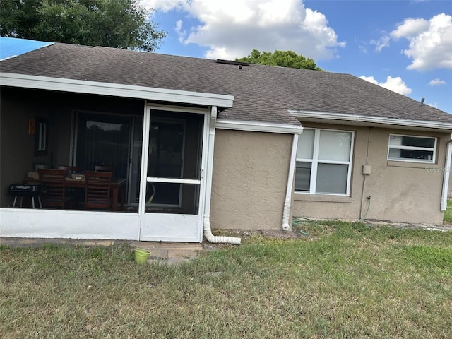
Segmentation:
{"type": "Polygon", "coordinates": [[[350,194],[352,131],[304,129],[298,138],[295,191],[350,194]]]}

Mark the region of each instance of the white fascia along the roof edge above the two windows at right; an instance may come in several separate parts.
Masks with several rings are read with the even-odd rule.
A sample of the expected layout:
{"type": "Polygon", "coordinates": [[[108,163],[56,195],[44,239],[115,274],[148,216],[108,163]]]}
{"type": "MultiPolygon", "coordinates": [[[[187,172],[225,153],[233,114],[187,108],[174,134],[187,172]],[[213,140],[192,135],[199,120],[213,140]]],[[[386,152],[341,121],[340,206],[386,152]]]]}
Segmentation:
{"type": "Polygon", "coordinates": [[[386,117],[369,117],[359,114],[340,114],[340,113],[328,113],[328,112],[312,112],[312,111],[297,111],[289,110],[293,117],[307,118],[307,119],[321,119],[321,120],[335,120],[335,121],[348,121],[351,123],[364,123],[372,125],[392,125],[392,126],[405,126],[421,129],[441,129],[444,131],[452,130],[452,123],[440,122],[440,121],[424,121],[424,120],[412,120],[412,119],[392,119],[386,117]]]}

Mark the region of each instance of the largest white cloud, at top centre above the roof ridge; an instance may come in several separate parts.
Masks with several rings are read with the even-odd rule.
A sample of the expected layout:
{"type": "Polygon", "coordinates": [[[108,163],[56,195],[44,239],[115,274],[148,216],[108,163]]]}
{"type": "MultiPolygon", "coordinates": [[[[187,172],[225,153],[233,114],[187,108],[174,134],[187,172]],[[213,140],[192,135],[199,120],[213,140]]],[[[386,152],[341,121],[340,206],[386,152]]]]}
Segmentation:
{"type": "Polygon", "coordinates": [[[141,0],[146,8],[184,11],[201,25],[182,29],[184,44],[208,47],[206,57],[234,59],[252,49],[292,50],[314,60],[331,59],[338,41],[323,13],[305,8],[300,0],[141,0]]]}

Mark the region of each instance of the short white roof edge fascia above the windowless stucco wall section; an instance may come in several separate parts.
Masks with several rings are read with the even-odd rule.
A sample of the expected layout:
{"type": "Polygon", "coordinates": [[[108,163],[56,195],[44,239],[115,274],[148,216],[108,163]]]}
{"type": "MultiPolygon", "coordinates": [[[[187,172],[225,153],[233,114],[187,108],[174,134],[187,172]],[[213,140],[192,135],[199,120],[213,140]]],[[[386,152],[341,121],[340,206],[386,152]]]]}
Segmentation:
{"type": "Polygon", "coordinates": [[[242,121],[230,119],[218,119],[216,129],[233,129],[236,131],[252,131],[266,133],[300,134],[303,132],[302,125],[275,124],[260,121],[242,121]]]}

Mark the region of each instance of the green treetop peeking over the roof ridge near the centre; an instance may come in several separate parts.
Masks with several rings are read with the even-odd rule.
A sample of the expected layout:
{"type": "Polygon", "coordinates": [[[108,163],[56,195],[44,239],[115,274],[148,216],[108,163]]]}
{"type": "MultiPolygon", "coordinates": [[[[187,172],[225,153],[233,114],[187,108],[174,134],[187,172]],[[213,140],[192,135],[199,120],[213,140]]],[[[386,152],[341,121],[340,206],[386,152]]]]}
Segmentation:
{"type": "Polygon", "coordinates": [[[303,57],[302,54],[297,54],[292,51],[275,51],[275,52],[260,52],[253,49],[248,57],[235,59],[236,61],[245,61],[249,64],[268,65],[290,67],[292,69],[314,69],[316,71],[323,71],[316,66],[313,59],[303,57]]]}

